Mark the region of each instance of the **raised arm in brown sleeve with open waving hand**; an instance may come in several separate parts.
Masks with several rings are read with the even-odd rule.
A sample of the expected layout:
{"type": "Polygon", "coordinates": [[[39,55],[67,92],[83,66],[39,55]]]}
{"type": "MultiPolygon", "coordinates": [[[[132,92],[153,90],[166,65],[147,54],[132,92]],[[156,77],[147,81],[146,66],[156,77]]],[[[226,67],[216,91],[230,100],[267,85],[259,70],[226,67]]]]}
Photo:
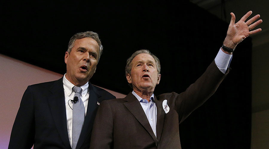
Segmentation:
{"type": "MultiPolygon", "coordinates": [[[[229,28],[227,30],[227,36],[223,42],[224,46],[230,49],[235,49],[237,44],[239,44],[249,35],[255,34],[262,30],[260,28],[253,30],[257,25],[262,23],[262,20],[258,20],[253,23],[260,17],[260,15],[255,15],[254,17],[246,21],[246,19],[251,15],[251,13],[252,11],[246,13],[237,23],[235,23],[235,15],[231,13],[232,18],[230,21],[229,28]]],[[[221,50],[226,54],[232,54],[232,52],[227,52],[222,48],[221,50]]],[[[219,59],[222,59],[223,61],[227,60],[228,62],[230,61],[230,59],[219,59]]],[[[179,95],[175,94],[177,105],[176,107],[178,108],[177,111],[180,116],[180,122],[186,119],[192,111],[201,106],[210,96],[215,93],[219,84],[222,82],[222,80],[228,73],[221,73],[220,71],[218,71],[218,69],[214,65],[214,63],[211,63],[205,73],[201,77],[199,77],[198,80],[195,81],[195,83],[190,85],[185,92],[179,95]]]]}

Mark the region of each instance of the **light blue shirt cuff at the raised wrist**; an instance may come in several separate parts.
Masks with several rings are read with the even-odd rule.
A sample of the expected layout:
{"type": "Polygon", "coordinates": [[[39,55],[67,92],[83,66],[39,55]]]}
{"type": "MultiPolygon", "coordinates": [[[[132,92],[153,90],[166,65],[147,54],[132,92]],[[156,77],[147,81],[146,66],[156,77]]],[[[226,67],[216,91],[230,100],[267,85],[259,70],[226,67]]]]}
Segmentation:
{"type": "Polygon", "coordinates": [[[215,58],[215,64],[218,69],[225,74],[226,70],[229,68],[233,55],[224,53],[219,49],[218,54],[215,58]]]}

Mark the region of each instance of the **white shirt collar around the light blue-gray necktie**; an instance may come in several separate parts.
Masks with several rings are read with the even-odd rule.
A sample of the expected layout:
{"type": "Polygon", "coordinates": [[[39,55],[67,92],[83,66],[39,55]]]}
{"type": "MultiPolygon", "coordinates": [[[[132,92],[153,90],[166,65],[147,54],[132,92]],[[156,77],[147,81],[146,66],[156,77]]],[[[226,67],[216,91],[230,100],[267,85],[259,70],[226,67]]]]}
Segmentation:
{"type": "MultiPolygon", "coordinates": [[[[62,83],[63,83],[64,90],[66,91],[66,93],[68,94],[68,96],[70,96],[70,94],[72,93],[72,88],[75,85],[72,84],[70,81],[68,81],[66,79],[65,75],[64,75],[64,77],[62,79],[62,83]]],[[[82,86],[79,86],[79,87],[81,87],[81,89],[82,89],[82,93],[81,93],[82,97],[85,97],[86,94],[87,94],[87,92],[88,92],[89,82],[87,82],[86,84],[84,84],[82,86]]]]}

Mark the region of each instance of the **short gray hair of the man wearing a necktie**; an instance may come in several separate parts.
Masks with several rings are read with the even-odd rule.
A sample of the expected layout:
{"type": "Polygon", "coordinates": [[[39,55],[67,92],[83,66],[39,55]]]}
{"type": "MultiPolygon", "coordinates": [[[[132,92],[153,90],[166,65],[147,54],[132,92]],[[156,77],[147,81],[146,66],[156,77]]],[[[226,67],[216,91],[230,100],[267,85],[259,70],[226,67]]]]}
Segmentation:
{"type": "Polygon", "coordinates": [[[99,59],[101,57],[101,54],[103,53],[103,46],[101,44],[101,41],[98,37],[98,34],[95,33],[95,32],[92,32],[92,31],[87,31],[87,32],[79,32],[79,33],[76,33],[75,35],[73,35],[71,38],[70,38],[70,41],[68,43],[68,49],[67,49],[67,52],[70,54],[72,48],[74,47],[74,43],[77,39],[82,39],[82,38],[92,38],[94,39],[98,45],[99,45],[99,56],[98,56],[98,62],[99,62],[99,59]]]}

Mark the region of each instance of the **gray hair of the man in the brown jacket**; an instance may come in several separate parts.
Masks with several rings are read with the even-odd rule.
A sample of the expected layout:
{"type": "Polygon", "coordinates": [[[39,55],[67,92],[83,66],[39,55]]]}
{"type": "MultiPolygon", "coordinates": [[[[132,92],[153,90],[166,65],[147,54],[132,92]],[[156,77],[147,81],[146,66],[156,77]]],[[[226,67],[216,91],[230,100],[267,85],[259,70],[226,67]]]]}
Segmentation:
{"type": "Polygon", "coordinates": [[[154,60],[155,60],[158,74],[161,72],[161,64],[160,64],[160,60],[159,60],[155,55],[153,55],[151,52],[149,52],[149,50],[141,49],[141,50],[138,50],[138,51],[136,51],[135,53],[133,53],[132,56],[131,56],[130,58],[127,59],[127,63],[126,63],[126,67],[125,67],[125,75],[127,75],[127,74],[130,74],[130,75],[131,75],[132,60],[133,60],[137,55],[142,54],[142,53],[146,53],[146,54],[151,55],[151,56],[154,58],[154,60]]]}

